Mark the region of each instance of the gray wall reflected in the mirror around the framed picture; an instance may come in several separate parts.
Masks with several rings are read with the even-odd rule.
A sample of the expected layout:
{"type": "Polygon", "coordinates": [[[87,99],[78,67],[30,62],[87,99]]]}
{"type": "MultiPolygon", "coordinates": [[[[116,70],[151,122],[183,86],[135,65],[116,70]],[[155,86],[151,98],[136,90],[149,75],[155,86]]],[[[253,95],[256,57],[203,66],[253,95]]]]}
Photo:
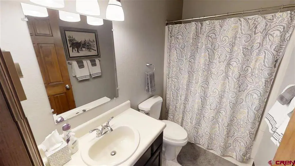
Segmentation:
{"type": "MultiPolygon", "coordinates": [[[[101,76],[78,81],[76,77],[72,77],[72,68],[68,64],[68,72],[72,84],[76,107],[97,100],[101,97],[114,98],[117,97],[116,79],[115,79],[115,60],[114,45],[112,37],[112,22],[104,20],[104,25],[92,26],[86,22],[86,16],[81,15],[80,22],[65,22],[59,20],[60,27],[73,27],[97,30],[99,49],[101,58],[99,58],[101,66],[101,76]]],[[[87,60],[87,59],[83,59],[87,60]]],[[[71,61],[69,61],[71,62],[71,61]]]]}

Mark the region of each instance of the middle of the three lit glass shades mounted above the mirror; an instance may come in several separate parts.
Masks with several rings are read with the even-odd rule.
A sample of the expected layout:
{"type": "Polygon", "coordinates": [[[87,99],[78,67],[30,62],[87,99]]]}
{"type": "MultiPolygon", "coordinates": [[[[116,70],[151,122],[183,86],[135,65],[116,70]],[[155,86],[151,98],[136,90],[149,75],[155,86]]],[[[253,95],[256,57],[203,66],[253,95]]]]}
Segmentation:
{"type": "Polygon", "coordinates": [[[97,0],[76,0],[76,11],[87,15],[100,15],[100,9],[97,0]]]}

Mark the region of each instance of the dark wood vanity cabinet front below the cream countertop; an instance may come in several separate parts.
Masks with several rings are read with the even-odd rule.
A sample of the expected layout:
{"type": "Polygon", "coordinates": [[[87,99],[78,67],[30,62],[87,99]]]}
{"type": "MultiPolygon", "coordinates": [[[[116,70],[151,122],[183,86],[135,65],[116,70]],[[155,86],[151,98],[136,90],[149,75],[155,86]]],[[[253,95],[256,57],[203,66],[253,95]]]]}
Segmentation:
{"type": "Polygon", "coordinates": [[[161,166],[162,165],[163,132],[145,151],[134,166],[161,166]]]}

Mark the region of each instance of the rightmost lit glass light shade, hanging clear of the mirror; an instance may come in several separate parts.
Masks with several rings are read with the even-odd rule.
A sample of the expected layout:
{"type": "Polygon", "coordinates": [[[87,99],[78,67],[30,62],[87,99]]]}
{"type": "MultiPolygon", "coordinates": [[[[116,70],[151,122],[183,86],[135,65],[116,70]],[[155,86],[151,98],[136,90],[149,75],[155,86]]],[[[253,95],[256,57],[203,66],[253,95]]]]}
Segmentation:
{"type": "Polygon", "coordinates": [[[109,0],[109,4],[106,7],[106,19],[113,21],[124,21],[124,12],[121,2],[109,0]]]}

